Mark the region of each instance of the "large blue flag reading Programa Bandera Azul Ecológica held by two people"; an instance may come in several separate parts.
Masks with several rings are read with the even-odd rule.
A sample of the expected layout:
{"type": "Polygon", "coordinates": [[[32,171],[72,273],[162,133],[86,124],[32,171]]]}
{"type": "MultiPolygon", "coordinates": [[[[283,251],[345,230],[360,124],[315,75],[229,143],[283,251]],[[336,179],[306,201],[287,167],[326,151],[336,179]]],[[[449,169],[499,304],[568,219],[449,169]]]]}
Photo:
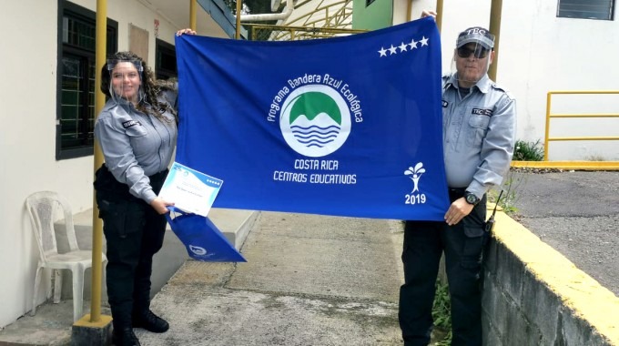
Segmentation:
{"type": "Polygon", "coordinates": [[[431,18],[354,36],[176,40],[176,160],[213,207],[442,220],[441,42],[431,18]]]}

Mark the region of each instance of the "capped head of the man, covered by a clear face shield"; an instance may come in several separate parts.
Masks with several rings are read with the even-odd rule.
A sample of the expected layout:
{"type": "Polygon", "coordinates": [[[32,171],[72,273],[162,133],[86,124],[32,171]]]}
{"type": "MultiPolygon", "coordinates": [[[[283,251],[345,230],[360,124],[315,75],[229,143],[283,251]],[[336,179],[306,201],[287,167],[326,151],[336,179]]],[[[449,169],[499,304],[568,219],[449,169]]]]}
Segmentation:
{"type": "Polygon", "coordinates": [[[470,87],[488,72],[492,63],[494,36],[482,27],[464,30],[453,52],[452,74],[459,85],[470,87]]]}

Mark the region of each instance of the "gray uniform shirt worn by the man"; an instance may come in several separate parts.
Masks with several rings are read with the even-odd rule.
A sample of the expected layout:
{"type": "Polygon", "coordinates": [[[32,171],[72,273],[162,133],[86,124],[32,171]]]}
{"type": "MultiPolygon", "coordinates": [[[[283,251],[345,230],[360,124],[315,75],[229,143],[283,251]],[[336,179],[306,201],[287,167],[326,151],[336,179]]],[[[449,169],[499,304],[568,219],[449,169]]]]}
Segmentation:
{"type": "Polygon", "coordinates": [[[442,78],[442,138],[447,185],[478,198],[510,168],[516,101],[486,75],[461,97],[455,76],[442,78]]]}

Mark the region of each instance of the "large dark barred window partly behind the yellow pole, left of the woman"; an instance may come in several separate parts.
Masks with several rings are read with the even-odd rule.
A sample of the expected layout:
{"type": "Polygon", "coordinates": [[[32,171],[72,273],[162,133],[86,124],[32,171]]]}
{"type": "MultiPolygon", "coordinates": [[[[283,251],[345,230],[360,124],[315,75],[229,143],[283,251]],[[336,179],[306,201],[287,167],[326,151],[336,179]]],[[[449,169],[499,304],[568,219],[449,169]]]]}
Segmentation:
{"type": "MultiPolygon", "coordinates": [[[[96,14],[64,0],[58,9],[56,159],[80,158],[93,155],[96,14]]],[[[117,27],[107,19],[107,52],[116,52],[117,27]]]]}

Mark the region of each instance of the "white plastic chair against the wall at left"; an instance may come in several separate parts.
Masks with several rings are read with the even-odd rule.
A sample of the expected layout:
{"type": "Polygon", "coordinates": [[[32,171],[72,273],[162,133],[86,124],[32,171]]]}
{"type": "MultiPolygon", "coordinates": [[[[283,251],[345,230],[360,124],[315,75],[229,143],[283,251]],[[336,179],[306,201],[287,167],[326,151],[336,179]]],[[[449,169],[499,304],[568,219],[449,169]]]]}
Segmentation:
{"type": "MultiPolygon", "coordinates": [[[[40,253],[36,267],[31,314],[33,316],[36,314],[36,293],[41,283],[41,271],[49,268],[55,273],[54,302],[58,303],[62,287],[60,270],[71,270],[73,274],[73,321],[77,321],[82,317],[84,271],[92,267],[92,251],[78,248],[71,206],[65,198],[56,192],[41,191],[28,196],[25,199],[25,206],[30,215],[40,253]],[[54,221],[57,213],[64,213],[66,239],[69,244],[69,251],[65,253],[58,253],[56,246],[54,221]]],[[[105,254],[102,254],[101,259],[104,264],[107,262],[105,254]]]]}

